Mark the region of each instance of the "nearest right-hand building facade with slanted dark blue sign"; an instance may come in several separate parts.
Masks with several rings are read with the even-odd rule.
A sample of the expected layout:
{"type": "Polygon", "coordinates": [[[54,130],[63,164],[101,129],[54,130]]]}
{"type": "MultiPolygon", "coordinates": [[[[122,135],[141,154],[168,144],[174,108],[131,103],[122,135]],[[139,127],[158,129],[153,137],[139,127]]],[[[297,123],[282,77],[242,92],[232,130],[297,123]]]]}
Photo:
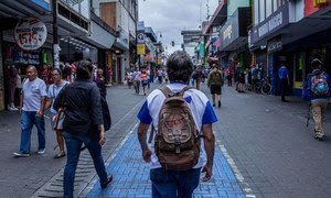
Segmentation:
{"type": "Polygon", "coordinates": [[[279,95],[278,69],[290,70],[291,94],[300,96],[313,58],[327,67],[331,63],[331,2],[316,0],[254,1],[254,26],[249,31],[249,48],[256,64],[264,66],[274,94],[279,95]],[[329,35],[329,36],[328,36],[329,35]]]}

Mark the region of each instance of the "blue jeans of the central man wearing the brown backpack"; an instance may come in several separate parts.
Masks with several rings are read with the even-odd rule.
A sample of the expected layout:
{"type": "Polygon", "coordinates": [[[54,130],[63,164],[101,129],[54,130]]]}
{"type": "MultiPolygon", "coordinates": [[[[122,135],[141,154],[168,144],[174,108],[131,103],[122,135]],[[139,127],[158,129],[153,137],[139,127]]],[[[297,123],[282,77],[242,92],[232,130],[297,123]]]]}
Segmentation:
{"type": "Polygon", "coordinates": [[[156,168],[150,170],[153,198],[191,198],[199,185],[201,168],[185,172],[164,170],[156,168]]]}

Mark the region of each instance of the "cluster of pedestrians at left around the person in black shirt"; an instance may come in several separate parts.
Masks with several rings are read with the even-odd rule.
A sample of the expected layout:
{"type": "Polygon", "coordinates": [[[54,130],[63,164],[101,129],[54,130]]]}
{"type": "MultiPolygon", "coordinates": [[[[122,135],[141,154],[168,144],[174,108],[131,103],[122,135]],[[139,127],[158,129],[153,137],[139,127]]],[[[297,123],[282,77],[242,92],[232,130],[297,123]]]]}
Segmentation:
{"type": "MultiPolygon", "coordinates": [[[[39,155],[45,153],[44,114],[50,109],[51,127],[56,133],[60,147],[54,158],[67,156],[64,197],[73,197],[75,169],[84,147],[87,147],[94,160],[102,188],[106,188],[113,176],[107,175],[102,156],[102,146],[106,141],[105,131],[109,130],[111,124],[104,72],[90,62],[82,61],[77,63],[75,69],[63,66],[62,69],[51,69],[50,74],[52,80],[49,79],[47,82],[51,81],[51,85],[47,85],[45,80],[39,78],[34,66],[26,68],[18,109],[21,113],[21,143],[19,151],[13,155],[15,157],[31,155],[33,125],[38,130],[36,153],[39,155]],[[60,112],[64,114],[60,116],[60,112]]],[[[43,77],[43,73],[40,76],[43,77]]]]}

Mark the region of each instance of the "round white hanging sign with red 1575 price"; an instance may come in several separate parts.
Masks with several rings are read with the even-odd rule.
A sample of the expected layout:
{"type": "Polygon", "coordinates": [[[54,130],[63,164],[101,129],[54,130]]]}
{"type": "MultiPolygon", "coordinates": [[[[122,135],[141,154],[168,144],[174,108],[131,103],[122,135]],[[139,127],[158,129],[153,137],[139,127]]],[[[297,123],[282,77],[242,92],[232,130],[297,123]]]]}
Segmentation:
{"type": "Polygon", "coordinates": [[[17,44],[24,51],[35,51],[47,38],[46,25],[36,18],[23,18],[14,29],[14,38],[17,44]]]}

